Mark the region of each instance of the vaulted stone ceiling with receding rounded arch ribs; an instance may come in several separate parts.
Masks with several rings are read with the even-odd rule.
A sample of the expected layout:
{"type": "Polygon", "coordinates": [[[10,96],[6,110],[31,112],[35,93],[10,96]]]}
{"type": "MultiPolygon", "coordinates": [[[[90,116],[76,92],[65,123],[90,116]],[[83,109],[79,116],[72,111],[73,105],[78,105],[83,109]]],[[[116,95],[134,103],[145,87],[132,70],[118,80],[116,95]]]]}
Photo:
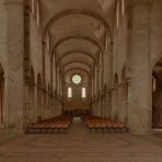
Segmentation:
{"type": "Polygon", "coordinates": [[[62,73],[91,74],[112,36],[116,0],[40,0],[44,34],[62,73]]]}

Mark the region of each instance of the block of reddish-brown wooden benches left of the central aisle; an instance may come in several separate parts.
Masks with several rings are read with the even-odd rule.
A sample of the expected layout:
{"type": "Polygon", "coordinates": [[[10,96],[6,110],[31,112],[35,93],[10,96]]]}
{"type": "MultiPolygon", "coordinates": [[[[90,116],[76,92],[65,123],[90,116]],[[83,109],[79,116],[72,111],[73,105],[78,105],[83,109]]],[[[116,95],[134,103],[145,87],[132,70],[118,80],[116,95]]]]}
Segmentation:
{"type": "Polygon", "coordinates": [[[27,134],[54,134],[66,132],[72,121],[71,116],[57,116],[50,119],[37,121],[28,125],[27,134]]]}

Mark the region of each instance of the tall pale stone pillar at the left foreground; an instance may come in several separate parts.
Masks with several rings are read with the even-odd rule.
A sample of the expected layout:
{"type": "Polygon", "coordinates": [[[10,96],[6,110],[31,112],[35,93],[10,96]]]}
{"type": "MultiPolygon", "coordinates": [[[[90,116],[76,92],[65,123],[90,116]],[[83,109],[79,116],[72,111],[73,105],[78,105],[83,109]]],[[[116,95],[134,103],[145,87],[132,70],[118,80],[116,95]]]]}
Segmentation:
{"type": "Polygon", "coordinates": [[[8,115],[9,128],[23,131],[24,4],[8,0],[8,115]]]}

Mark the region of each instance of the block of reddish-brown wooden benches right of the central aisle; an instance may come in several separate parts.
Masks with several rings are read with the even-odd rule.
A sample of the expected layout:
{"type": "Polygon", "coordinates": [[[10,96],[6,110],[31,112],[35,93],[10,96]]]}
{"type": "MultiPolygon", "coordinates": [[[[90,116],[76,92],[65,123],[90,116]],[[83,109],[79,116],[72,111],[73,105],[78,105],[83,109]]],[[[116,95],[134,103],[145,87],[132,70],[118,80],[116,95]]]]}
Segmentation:
{"type": "Polygon", "coordinates": [[[96,116],[83,116],[82,120],[90,130],[108,132],[127,132],[129,130],[126,124],[96,116]]]}

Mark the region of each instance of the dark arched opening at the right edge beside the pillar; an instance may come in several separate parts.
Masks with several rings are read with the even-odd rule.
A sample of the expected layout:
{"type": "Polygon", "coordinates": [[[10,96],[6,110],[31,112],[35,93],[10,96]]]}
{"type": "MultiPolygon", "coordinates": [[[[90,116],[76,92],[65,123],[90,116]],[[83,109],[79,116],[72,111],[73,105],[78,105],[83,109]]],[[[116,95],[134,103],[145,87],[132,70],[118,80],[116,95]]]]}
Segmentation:
{"type": "Polygon", "coordinates": [[[152,72],[152,126],[162,128],[162,58],[152,72]]]}

